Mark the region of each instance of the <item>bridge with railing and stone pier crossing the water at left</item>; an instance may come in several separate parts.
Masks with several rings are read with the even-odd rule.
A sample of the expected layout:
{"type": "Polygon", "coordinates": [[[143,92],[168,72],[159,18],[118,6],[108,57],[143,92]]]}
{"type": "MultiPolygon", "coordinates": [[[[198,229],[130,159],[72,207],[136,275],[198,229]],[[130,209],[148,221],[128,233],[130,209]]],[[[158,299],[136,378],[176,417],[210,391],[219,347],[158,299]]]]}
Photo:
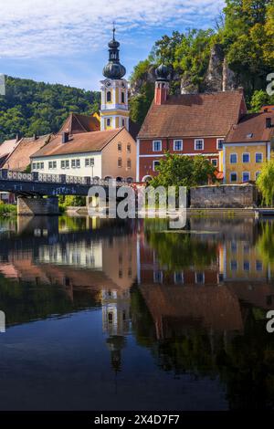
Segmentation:
{"type": "MultiPolygon", "coordinates": [[[[127,183],[111,179],[112,186],[124,184],[127,183]]],[[[103,186],[108,196],[109,180],[0,169],[0,191],[16,194],[18,214],[58,214],[58,195],[87,196],[90,187],[95,185],[103,186]]]]}

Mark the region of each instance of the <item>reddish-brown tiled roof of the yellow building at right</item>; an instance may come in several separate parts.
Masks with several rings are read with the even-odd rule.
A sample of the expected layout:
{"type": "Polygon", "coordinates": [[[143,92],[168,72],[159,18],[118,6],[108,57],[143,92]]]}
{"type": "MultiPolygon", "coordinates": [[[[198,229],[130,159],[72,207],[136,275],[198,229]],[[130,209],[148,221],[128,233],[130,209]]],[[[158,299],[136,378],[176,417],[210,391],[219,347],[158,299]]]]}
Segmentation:
{"type": "Polygon", "coordinates": [[[274,112],[245,115],[237,125],[231,127],[226,143],[270,141],[274,136],[274,127],[266,128],[267,118],[271,118],[274,125],[274,112]]]}

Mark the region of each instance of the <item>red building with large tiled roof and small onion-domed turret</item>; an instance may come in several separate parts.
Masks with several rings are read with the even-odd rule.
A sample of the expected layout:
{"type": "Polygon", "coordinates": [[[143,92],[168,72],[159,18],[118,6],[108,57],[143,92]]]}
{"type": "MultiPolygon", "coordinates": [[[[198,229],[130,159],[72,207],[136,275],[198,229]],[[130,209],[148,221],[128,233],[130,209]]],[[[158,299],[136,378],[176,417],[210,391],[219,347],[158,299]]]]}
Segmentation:
{"type": "Polygon", "coordinates": [[[165,152],[202,154],[218,169],[227,132],[247,112],[242,89],[170,96],[168,73],[156,69],[153,103],[137,136],[137,182],[156,174],[165,152]]]}

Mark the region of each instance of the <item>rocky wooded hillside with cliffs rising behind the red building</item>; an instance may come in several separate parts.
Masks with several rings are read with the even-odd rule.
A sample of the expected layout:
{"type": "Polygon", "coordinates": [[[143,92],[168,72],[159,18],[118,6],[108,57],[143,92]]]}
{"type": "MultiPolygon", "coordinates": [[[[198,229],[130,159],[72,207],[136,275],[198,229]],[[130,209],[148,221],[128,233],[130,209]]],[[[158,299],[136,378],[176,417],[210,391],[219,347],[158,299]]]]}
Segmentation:
{"type": "Polygon", "coordinates": [[[243,87],[249,110],[274,104],[266,92],[274,71],[274,0],[227,0],[215,23],[155,42],[132,73],[132,120],[142,123],[153,99],[154,70],[162,62],[171,70],[172,93],[243,87]]]}

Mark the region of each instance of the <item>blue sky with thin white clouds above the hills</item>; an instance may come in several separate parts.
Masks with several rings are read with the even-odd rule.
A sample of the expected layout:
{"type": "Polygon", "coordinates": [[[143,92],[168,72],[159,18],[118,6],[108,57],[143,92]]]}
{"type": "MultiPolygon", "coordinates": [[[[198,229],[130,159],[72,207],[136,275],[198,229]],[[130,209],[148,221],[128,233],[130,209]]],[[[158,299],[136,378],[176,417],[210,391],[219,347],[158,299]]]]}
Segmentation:
{"type": "Polygon", "coordinates": [[[155,40],[214,26],[223,0],[0,0],[0,73],[99,89],[112,22],[132,73],[155,40]]]}

